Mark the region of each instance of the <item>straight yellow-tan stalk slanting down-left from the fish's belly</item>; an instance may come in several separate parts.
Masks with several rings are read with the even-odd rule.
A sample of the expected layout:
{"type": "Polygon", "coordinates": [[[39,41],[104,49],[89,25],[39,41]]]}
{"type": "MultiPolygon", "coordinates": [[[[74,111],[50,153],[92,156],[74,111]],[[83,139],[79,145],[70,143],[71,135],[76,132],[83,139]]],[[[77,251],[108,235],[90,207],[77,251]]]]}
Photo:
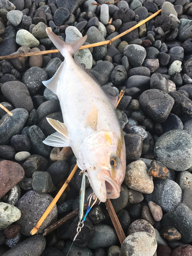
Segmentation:
{"type": "Polygon", "coordinates": [[[53,209],[54,205],[56,204],[56,202],[59,200],[60,196],[62,195],[63,191],[66,189],[66,187],[68,186],[69,182],[71,181],[71,179],[73,178],[76,170],[77,170],[78,166],[77,164],[75,165],[75,167],[73,168],[70,176],[68,177],[68,179],[66,180],[66,182],[62,185],[61,189],[58,191],[56,197],[53,199],[53,201],[50,203],[50,205],[48,206],[47,210],[44,212],[44,214],[42,215],[42,217],[40,218],[40,220],[37,222],[37,224],[35,225],[35,227],[31,230],[31,234],[35,234],[39,227],[41,226],[41,224],[45,221],[45,219],[47,218],[48,214],[50,213],[50,211],[53,209]]]}

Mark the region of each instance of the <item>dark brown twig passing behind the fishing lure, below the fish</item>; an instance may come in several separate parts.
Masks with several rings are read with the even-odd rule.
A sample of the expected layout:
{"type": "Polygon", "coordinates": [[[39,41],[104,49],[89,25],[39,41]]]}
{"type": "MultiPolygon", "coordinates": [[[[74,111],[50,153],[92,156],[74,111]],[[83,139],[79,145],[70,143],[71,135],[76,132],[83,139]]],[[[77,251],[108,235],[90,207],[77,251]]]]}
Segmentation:
{"type": "MultiPolygon", "coordinates": [[[[94,202],[94,200],[91,201],[91,204],[94,202]]],[[[99,200],[96,201],[95,204],[98,204],[99,200]]],[[[84,204],[84,208],[83,210],[87,210],[89,206],[89,202],[84,204]]],[[[56,228],[60,227],[63,223],[65,223],[66,221],[71,220],[72,218],[76,217],[78,214],[78,209],[72,211],[70,214],[68,214],[67,216],[63,217],[62,219],[60,219],[59,221],[55,222],[53,225],[49,226],[48,228],[46,228],[44,230],[44,233],[42,234],[43,236],[47,236],[47,234],[51,233],[53,230],[55,230],[56,228]]]]}

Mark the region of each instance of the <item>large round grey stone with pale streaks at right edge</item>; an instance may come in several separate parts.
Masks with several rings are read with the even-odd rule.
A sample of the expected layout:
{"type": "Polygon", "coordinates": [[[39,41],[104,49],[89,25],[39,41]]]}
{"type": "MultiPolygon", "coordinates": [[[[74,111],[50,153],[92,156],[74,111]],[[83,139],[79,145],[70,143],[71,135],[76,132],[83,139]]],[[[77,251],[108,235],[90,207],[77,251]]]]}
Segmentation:
{"type": "Polygon", "coordinates": [[[167,168],[182,172],[192,165],[192,137],[183,130],[172,130],[159,137],[154,154],[167,168]]]}

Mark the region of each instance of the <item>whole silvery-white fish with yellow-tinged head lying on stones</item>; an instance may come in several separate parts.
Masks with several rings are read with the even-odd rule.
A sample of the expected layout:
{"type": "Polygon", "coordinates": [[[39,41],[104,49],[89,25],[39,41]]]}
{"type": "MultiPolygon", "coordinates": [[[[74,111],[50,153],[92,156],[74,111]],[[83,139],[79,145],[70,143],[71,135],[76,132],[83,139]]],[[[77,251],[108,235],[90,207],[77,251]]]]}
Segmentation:
{"type": "Polygon", "coordinates": [[[95,77],[74,61],[73,54],[87,35],[68,44],[51,28],[46,32],[64,61],[55,75],[42,83],[57,95],[63,123],[47,118],[56,132],[43,142],[54,147],[70,146],[94,196],[101,202],[116,199],[126,169],[124,136],[115,110],[118,97],[104,92],[95,77]]]}

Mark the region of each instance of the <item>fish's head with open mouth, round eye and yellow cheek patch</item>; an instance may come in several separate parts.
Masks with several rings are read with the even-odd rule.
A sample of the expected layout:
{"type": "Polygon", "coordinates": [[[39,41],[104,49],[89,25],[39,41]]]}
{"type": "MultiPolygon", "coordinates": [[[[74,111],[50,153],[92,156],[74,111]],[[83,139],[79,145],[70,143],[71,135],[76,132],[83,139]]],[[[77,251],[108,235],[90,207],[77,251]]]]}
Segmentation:
{"type": "Polygon", "coordinates": [[[125,176],[124,137],[108,131],[95,131],[80,148],[81,162],[87,169],[90,185],[101,201],[120,196],[125,176]]]}

